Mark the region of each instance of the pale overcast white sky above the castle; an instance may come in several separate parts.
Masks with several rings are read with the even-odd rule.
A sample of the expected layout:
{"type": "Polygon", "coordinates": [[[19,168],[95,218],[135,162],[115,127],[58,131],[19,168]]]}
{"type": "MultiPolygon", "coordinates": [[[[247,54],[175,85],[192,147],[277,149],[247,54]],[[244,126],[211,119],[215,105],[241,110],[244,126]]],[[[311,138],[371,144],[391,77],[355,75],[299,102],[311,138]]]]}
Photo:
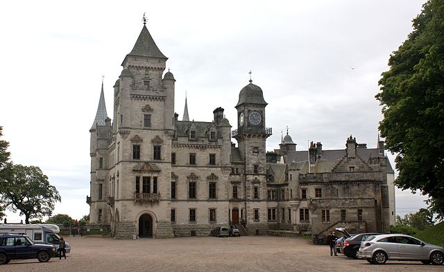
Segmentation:
{"type": "MultiPolygon", "coordinates": [[[[176,78],[175,110],[212,121],[225,109],[237,125],[239,92],[262,88],[267,150],[281,131],[297,150],[308,142],[345,148],[348,136],[375,148],[378,80],[413,30],[424,0],[6,1],[0,10],[0,126],[12,162],[40,167],[62,196],[53,214],[89,214],[89,128],[102,76],[108,116],[121,62],[142,16],[176,78]]],[[[232,128],[234,129],[234,128],[232,128]]],[[[235,140],[233,139],[235,142],[235,140]]],[[[387,151],[393,168],[394,155],[387,151]]],[[[425,196],[396,191],[398,214],[425,196]]],[[[8,212],[9,222],[24,219],[8,212]]]]}

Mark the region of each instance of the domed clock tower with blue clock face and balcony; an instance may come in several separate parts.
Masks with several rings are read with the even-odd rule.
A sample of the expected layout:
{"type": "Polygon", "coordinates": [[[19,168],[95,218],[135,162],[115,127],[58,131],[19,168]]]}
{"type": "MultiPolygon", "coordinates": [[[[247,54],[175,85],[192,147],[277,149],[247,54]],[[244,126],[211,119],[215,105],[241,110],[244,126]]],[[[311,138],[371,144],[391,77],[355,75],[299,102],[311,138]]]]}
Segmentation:
{"type": "MultiPolygon", "coordinates": [[[[237,102],[237,129],[233,130],[232,137],[237,140],[239,153],[244,160],[244,171],[241,182],[244,189],[246,220],[257,224],[256,216],[266,218],[266,138],[271,135],[271,128],[265,126],[265,107],[262,89],[250,84],[239,92],[237,102]],[[257,214],[259,212],[259,214],[257,214]]],[[[264,226],[266,227],[266,226],[264,226]]]]}

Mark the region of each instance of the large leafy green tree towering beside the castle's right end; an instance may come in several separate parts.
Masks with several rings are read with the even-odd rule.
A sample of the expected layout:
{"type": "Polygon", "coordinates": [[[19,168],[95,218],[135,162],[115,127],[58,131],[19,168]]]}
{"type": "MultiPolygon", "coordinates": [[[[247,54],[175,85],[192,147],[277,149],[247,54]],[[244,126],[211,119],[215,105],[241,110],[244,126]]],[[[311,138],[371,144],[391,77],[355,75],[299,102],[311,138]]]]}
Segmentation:
{"type": "Polygon", "coordinates": [[[444,218],[444,1],[422,8],[413,32],[391,54],[375,97],[386,148],[398,153],[395,184],[428,195],[432,212],[444,218]]]}

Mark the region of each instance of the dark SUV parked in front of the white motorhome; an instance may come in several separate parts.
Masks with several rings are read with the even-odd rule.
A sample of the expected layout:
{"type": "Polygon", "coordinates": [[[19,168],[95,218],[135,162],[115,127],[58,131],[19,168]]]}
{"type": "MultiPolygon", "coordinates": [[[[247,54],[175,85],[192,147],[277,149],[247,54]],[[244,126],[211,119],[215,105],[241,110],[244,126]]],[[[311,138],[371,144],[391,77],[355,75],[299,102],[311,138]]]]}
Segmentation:
{"type": "Polygon", "coordinates": [[[48,262],[56,254],[56,247],[34,244],[27,235],[0,235],[0,264],[12,259],[33,259],[48,262]]]}

